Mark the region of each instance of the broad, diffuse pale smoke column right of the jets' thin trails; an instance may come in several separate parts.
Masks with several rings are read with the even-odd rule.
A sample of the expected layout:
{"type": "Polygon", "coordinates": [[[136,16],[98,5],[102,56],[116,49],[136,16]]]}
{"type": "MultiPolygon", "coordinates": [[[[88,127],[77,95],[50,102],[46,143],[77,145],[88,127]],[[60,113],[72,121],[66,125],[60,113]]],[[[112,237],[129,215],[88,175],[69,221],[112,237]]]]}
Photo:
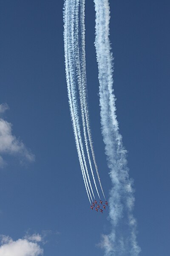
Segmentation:
{"type": "Polygon", "coordinates": [[[112,181],[109,216],[112,231],[103,236],[101,246],[106,255],[138,256],[136,220],[133,217],[134,196],[129,179],[126,150],[119,134],[113,94],[113,56],[109,40],[110,9],[108,0],[94,0],[96,11],[96,58],[99,69],[99,100],[102,135],[112,181]]]}

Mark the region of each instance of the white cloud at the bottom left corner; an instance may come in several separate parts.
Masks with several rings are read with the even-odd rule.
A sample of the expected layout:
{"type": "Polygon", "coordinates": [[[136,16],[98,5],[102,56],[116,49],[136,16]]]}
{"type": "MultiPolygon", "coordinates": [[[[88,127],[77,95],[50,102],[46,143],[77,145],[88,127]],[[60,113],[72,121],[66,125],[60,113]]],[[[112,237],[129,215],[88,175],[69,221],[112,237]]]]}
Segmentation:
{"type": "Polygon", "coordinates": [[[37,234],[31,237],[34,236],[32,241],[26,238],[13,241],[9,236],[1,236],[0,256],[42,256],[43,249],[36,241],[37,234]]]}

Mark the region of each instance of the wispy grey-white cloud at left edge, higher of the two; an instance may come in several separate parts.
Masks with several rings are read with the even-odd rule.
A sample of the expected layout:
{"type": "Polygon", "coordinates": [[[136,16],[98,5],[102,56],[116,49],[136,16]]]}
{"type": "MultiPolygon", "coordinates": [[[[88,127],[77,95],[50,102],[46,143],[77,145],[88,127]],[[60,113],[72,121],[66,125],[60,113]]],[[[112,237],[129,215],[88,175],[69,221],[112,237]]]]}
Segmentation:
{"type": "MultiPolygon", "coordinates": [[[[8,109],[7,106],[7,104],[1,104],[0,113],[3,113],[5,109],[8,109]]],[[[11,123],[0,118],[0,167],[3,167],[6,164],[2,154],[22,157],[30,162],[34,161],[34,155],[26,148],[22,141],[12,134],[11,123]]]]}

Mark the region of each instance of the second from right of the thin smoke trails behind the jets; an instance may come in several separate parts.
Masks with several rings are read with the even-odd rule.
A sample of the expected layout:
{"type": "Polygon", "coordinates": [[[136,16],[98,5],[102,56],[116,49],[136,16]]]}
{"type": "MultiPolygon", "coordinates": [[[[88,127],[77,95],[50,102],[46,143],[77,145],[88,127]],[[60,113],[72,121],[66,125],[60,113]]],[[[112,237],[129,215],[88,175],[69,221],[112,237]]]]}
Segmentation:
{"type": "MultiPolygon", "coordinates": [[[[82,9],[84,11],[84,0],[81,1],[80,4],[80,23],[82,23],[82,21],[84,21],[84,15],[82,12],[82,9]],[[82,7],[83,6],[83,7],[82,7]]],[[[86,125],[88,127],[89,130],[89,124],[87,124],[86,122],[88,121],[87,119],[85,119],[85,112],[88,111],[87,108],[87,99],[85,99],[83,97],[83,80],[84,80],[84,76],[85,74],[82,72],[85,72],[84,70],[80,69],[81,66],[81,62],[82,60],[80,59],[80,52],[79,52],[79,0],[76,0],[76,7],[75,7],[75,32],[74,32],[74,59],[75,59],[75,70],[76,70],[76,75],[77,75],[77,83],[78,83],[78,88],[79,88],[79,97],[80,97],[80,107],[81,107],[81,115],[82,115],[82,126],[83,126],[83,133],[84,133],[84,138],[85,138],[85,146],[86,146],[86,151],[87,151],[87,155],[88,155],[88,161],[89,161],[89,165],[90,165],[90,169],[91,169],[91,174],[94,180],[94,185],[96,188],[96,192],[99,196],[99,192],[96,186],[96,180],[94,177],[94,172],[93,172],[93,168],[92,168],[92,164],[91,164],[91,157],[90,157],[90,152],[89,152],[89,147],[88,147],[88,137],[87,137],[87,132],[86,132],[86,125]],[[86,101],[85,101],[86,100],[86,101]]],[[[82,27],[81,27],[81,40],[82,40],[82,27]]],[[[81,43],[80,43],[81,45],[81,43]]],[[[83,63],[84,64],[84,63],[83,63]]],[[[100,199],[100,196],[99,196],[100,199]]]]}

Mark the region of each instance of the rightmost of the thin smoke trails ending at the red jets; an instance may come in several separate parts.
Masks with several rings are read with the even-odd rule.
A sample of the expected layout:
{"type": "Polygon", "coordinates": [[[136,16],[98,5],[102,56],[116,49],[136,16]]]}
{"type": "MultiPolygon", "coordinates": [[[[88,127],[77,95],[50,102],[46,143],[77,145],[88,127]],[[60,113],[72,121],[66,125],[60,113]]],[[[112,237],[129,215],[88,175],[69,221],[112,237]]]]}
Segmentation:
{"type": "MultiPolygon", "coordinates": [[[[81,41],[80,41],[80,47],[81,47],[81,51],[80,51],[80,66],[81,66],[81,74],[82,74],[82,96],[83,96],[83,105],[84,105],[84,112],[85,112],[85,121],[86,121],[86,126],[87,126],[87,131],[88,131],[88,139],[89,139],[89,143],[90,143],[90,147],[91,147],[91,153],[92,153],[92,157],[93,157],[93,161],[94,161],[94,166],[96,169],[96,173],[97,173],[97,177],[99,180],[99,184],[102,190],[102,194],[105,198],[105,194],[102,188],[102,183],[100,180],[100,176],[99,176],[99,171],[98,171],[98,167],[96,164],[96,158],[95,158],[95,154],[94,154],[94,147],[93,147],[93,142],[92,142],[92,137],[91,137],[91,128],[90,128],[90,121],[89,121],[89,113],[88,113],[88,99],[87,99],[87,79],[86,79],[86,63],[85,63],[85,0],[81,0],[80,1],[80,33],[81,33],[81,41]]],[[[94,179],[94,174],[93,171],[91,169],[92,172],[92,176],[94,179]]],[[[94,184],[96,187],[96,182],[94,179],[94,184]]],[[[96,188],[97,190],[97,188],[96,188]]],[[[99,195],[99,193],[98,193],[99,195]]],[[[100,196],[99,196],[100,198],[100,196]]],[[[105,198],[106,200],[106,198],[105,198]]]]}

